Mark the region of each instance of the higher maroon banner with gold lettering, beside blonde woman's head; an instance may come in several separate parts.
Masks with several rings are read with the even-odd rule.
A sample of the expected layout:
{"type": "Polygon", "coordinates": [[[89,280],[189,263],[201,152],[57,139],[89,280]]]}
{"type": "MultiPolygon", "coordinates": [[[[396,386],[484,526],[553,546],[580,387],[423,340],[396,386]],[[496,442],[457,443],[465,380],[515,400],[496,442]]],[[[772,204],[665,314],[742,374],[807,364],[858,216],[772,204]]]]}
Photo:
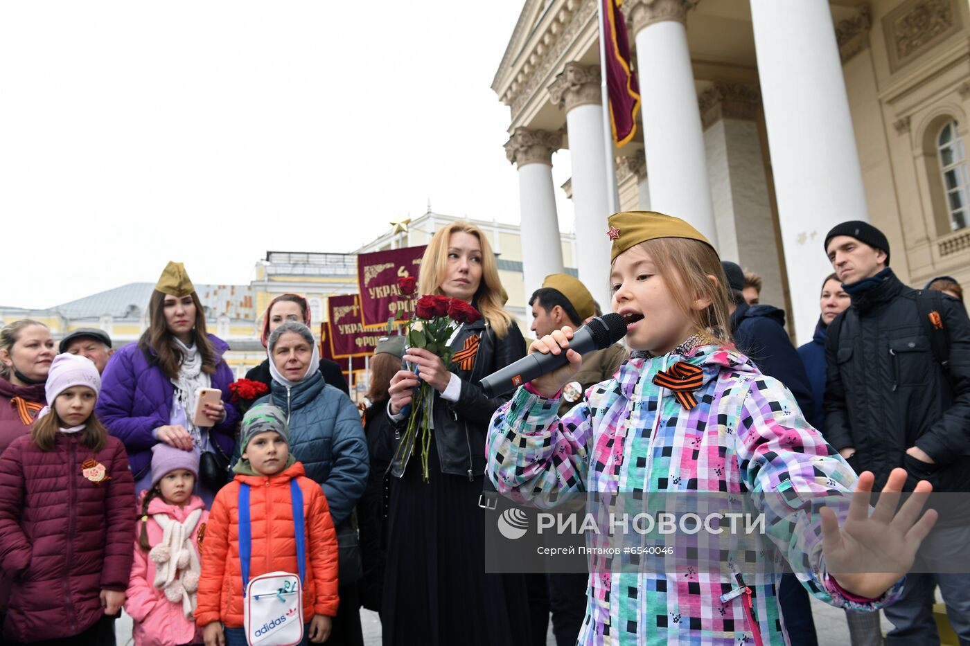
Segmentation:
{"type": "Polygon", "coordinates": [[[398,278],[417,277],[425,245],[407,246],[362,253],[357,256],[357,284],[360,288],[360,317],[367,329],[385,328],[392,316],[404,322],[403,315],[414,311],[418,294],[406,299],[398,290],[398,278]]]}

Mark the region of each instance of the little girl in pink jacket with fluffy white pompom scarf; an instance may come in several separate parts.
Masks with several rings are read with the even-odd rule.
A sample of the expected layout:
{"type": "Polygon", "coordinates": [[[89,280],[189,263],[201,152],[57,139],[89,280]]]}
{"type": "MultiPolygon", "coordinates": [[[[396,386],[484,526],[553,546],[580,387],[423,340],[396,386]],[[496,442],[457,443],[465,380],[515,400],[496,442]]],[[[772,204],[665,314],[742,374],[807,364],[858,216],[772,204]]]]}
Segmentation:
{"type": "Polygon", "coordinates": [[[151,454],[151,489],[139,501],[135,563],[124,609],[135,620],[137,646],[201,644],[202,630],[192,613],[209,511],[192,495],[199,454],[163,442],[151,454]]]}

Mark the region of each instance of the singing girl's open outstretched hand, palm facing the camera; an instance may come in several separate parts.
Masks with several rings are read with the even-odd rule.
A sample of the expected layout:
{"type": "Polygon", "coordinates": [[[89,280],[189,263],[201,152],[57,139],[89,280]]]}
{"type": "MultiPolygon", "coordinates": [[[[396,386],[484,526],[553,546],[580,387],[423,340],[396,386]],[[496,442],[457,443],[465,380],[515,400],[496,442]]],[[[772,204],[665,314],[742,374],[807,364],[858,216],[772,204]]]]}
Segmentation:
{"type": "MultiPolygon", "coordinates": [[[[856,494],[872,491],[875,477],[870,471],[858,476],[856,494]]],[[[910,496],[899,511],[899,492],[906,482],[906,470],[893,468],[883,492],[869,515],[868,496],[856,496],[849,515],[839,528],[835,512],[822,509],[822,551],[828,572],[848,593],[879,598],[913,566],[916,552],[936,522],[937,512],[929,509],[920,517],[926,496],[910,496]]],[[[933,490],[921,480],[915,494],[933,490]]]]}

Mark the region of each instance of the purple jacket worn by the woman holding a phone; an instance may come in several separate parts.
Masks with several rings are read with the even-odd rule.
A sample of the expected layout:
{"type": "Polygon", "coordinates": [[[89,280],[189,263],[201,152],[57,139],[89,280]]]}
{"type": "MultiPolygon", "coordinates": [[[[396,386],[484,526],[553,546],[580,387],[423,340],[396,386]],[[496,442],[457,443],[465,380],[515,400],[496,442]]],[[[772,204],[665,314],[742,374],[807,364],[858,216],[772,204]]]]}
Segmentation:
{"type": "MultiPolygon", "coordinates": [[[[222,391],[226,418],[210,428],[211,444],[228,460],[236,443],[236,426],[240,420],[236,406],[230,404],[229,384],[233,371],[222,355],[229,349],[225,341],[209,335],[215,351],[215,372],[212,388],[222,391]]],[[[172,398],[175,386],[158,367],[157,355],[150,348],[143,350],[138,343],[130,343],[115,352],[101,375],[101,396],[96,412],[111,434],[128,450],[135,479],[141,478],[151,467],[151,447],[158,443],[154,431],[171,424],[172,398]]],[[[192,411],[187,411],[189,415],[192,411]]]]}

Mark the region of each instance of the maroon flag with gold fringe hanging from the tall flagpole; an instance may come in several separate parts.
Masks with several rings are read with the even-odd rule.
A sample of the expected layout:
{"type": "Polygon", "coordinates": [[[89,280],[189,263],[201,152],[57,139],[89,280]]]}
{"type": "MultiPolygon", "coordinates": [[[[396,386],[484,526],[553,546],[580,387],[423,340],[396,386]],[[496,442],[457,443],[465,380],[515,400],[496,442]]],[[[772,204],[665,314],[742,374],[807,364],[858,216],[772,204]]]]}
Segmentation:
{"type": "Polygon", "coordinates": [[[603,29],[606,31],[606,88],[609,90],[609,116],[613,141],[627,145],[636,134],[636,113],[640,110],[640,87],[630,71],[630,41],[627,21],[620,11],[623,0],[600,0],[603,29]]]}

